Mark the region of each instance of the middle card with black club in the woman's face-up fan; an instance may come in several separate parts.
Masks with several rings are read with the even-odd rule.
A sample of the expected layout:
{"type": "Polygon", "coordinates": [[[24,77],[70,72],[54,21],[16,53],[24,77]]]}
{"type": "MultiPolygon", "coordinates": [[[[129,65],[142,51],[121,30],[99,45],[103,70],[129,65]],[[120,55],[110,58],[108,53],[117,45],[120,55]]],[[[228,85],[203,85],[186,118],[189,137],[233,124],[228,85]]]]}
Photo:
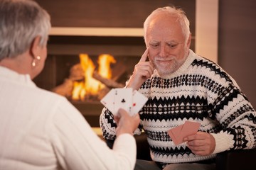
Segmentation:
{"type": "Polygon", "coordinates": [[[123,108],[128,113],[132,109],[132,88],[114,89],[114,115],[117,114],[119,108],[123,108]]]}

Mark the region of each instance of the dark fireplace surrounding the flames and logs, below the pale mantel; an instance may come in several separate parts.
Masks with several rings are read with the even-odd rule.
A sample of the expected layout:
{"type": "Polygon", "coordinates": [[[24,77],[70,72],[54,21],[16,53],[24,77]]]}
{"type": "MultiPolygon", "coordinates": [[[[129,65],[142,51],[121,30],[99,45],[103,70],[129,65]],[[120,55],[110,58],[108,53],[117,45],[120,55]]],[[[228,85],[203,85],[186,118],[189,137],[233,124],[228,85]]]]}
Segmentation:
{"type": "MultiPolygon", "coordinates": [[[[70,69],[80,63],[80,54],[87,54],[96,69],[98,57],[108,54],[112,55],[116,61],[111,64],[112,77],[120,74],[122,67],[122,75],[114,81],[124,86],[144,50],[142,36],[50,35],[46,65],[34,81],[37,86],[54,91],[70,77],[70,69]]],[[[68,100],[78,108],[92,127],[98,127],[103,108],[100,98],[90,97],[85,98],[84,101],[78,101],[68,97],[68,100]]]]}

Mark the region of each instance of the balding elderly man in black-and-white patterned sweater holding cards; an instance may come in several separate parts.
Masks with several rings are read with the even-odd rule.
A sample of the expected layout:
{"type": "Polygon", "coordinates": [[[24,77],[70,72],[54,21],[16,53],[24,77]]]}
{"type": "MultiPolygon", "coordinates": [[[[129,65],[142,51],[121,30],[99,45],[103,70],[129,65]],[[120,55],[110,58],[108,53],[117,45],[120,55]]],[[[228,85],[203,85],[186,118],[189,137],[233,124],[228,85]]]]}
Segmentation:
{"type": "MultiPolygon", "coordinates": [[[[256,147],[254,108],[218,64],[189,49],[191,33],[184,11],[157,8],[144,22],[144,40],[146,51],[127,87],[149,98],[139,114],[151,159],[160,169],[215,169],[215,154],[256,147]],[[168,131],[186,120],[201,126],[175,145],[168,131]]],[[[111,114],[104,108],[100,116],[108,140],[115,137],[111,114]]],[[[148,169],[144,163],[137,167],[148,169]]]]}

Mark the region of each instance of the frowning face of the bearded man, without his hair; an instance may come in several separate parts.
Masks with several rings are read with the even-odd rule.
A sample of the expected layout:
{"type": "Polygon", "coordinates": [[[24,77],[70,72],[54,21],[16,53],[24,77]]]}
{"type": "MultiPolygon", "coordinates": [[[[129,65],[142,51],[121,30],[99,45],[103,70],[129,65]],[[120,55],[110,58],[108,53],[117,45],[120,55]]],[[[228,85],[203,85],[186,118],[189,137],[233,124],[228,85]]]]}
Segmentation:
{"type": "Polygon", "coordinates": [[[146,31],[149,60],[160,75],[176,72],[188,56],[190,38],[185,40],[176,18],[161,14],[153,18],[146,31]]]}

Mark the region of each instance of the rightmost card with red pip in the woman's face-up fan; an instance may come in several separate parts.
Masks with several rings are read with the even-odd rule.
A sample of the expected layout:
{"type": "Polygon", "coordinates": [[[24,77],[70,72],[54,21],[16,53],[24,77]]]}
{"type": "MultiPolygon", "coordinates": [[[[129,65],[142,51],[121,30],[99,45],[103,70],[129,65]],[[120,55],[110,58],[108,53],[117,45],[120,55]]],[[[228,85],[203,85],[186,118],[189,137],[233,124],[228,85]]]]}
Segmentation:
{"type": "Polygon", "coordinates": [[[132,109],[131,109],[131,115],[134,115],[138,113],[144,104],[148,101],[148,98],[144,96],[143,94],[139,93],[139,91],[134,90],[132,92],[132,109]]]}

